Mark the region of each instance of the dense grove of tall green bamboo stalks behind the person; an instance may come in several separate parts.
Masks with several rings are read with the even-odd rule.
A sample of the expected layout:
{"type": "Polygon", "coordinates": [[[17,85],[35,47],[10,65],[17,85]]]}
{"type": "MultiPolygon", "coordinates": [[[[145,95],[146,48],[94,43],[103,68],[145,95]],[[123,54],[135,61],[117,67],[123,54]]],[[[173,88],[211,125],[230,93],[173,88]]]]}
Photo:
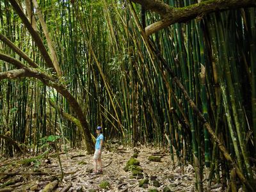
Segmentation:
{"type": "MultiPolygon", "coordinates": [[[[56,52],[53,65],[60,66],[54,76],[77,100],[92,133],[102,125],[107,141],[132,146],[169,143],[173,162],[177,156],[178,164],[193,163],[198,191],[203,190],[204,173],[208,186],[214,181],[232,191],[243,185],[250,188],[256,151],[255,8],[201,15],[147,38],[141,26],[161,18],[141,11],[140,4],[40,0],[40,15],[31,3],[19,1],[52,56],[40,18],[45,20],[56,52]],[[236,186],[236,173],[231,174],[234,164],[240,171],[237,176],[241,173],[250,184],[239,177],[244,183],[236,186]]],[[[197,1],[165,3],[183,7],[197,1]]],[[[5,0],[0,1],[0,33],[37,63],[38,70],[52,74],[19,14],[5,0]]],[[[30,64],[3,40],[0,52],[30,64]]],[[[1,74],[14,68],[0,61],[1,74]]],[[[40,139],[51,134],[61,136],[71,147],[82,145],[83,126],[65,95],[35,78],[0,79],[2,155],[17,152],[4,136],[24,144],[33,154],[45,150],[40,139]]]]}

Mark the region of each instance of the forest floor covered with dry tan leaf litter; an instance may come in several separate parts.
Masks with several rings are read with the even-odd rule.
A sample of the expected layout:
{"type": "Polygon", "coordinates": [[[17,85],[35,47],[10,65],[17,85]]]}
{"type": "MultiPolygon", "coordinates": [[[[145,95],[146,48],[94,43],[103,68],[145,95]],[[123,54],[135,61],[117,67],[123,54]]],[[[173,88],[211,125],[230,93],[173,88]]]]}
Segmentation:
{"type": "MultiPolygon", "coordinates": [[[[131,170],[125,172],[124,167],[133,154],[134,149],[120,146],[112,152],[104,150],[102,153],[104,168],[103,173],[99,175],[90,173],[93,168],[93,155],[86,155],[84,150],[70,150],[68,157],[66,154],[61,154],[63,172],[67,174],[55,191],[61,191],[67,186],[71,186],[68,191],[150,191],[150,189],[164,191],[165,187],[170,191],[194,191],[195,173],[190,164],[180,168],[173,165],[168,152],[159,148],[140,147],[136,159],[140,161],[143,175],[132,177],[131,170]],[[148,161],[148,157],[152,154],[160,156],[161,161],[148,161]],[[141,188],[139,181],[143,178],[148,178],[148,184],[141,188]],[[100,188],[99,184],[102,181],[109,182],[107,189],[100,188]]],[[[24,159],[25,157],[5,161],[1,159],[0,191],[8,188],[12,191],[42,191],[52,180],[60,177],[58,174],[61,170],[57,157],[49,156],[48,159],[36,159],[26,164],[24,159]],[[2,173],[9,173],[9,175],[2,175],[2,173]],[[37,173],[40,175],[36,175],[37,173]]]]}

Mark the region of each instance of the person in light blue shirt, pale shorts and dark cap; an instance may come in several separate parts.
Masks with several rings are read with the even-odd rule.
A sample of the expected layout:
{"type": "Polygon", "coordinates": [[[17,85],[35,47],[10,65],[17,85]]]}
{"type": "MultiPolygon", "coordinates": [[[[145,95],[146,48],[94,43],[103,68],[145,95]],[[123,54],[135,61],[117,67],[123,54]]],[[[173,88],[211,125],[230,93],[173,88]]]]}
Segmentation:
{"type": "Polygon", "coordinates": [[[102,145],[104,140],[104,136],[102,134],[102,127],[100,126],[97,127],[96,132],[97,132],[97,138],[95,143],[95,153],[93,156],[94,173],[102,173],[101,152],[102,152],[102,145]],[[97,170],[97,162],[99,163],[99,170],[97,170]]]}

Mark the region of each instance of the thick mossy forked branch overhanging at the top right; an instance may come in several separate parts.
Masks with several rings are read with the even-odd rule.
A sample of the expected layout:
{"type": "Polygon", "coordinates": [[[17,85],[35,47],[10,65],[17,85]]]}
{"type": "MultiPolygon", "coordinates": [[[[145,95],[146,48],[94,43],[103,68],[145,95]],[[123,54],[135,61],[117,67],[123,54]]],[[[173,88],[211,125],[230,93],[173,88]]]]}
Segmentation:
{"type": "Polygon", "coordinates": [[[159,0],[131,0],[134,3],[139,3],[147,10],[159,13],[163,17],[162,20],[151,24],[145,28],[147,36],[156,33],[157,31],[167,28],[171,24],[177,22],[188,22],[200,15],[212,13],[220,10],[230,10],[235,8],[246,8],[256,6],[256,0],[207,0],[201,3],[191,4],[184,8],[173,8],[159,0]],[[168,8],[167,8],[168,6],[168,8]]]}

